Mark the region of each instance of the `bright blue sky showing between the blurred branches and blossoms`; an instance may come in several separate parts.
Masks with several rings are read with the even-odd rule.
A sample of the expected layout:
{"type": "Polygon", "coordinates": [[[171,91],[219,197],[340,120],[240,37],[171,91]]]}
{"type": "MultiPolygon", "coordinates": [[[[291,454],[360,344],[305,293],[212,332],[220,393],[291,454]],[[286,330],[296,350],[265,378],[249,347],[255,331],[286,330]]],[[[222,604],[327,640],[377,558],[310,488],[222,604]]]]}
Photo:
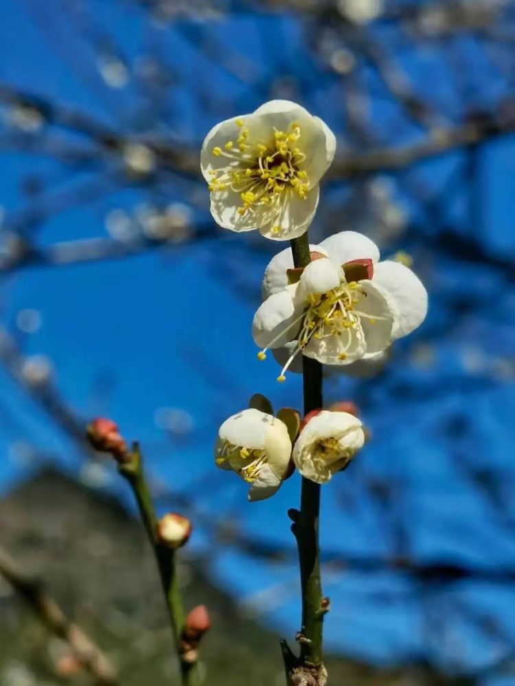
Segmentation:
{"type": "MultiPolygon", "coordinates": [[[[119,131],[135,132],[152,125],[171,140],[198,150],[216,121],[253,109],[275,95],[281,83],[295,77],[299,99],[343,136],[335,98],[339,81],[308,52],[306,27],[292,17],[256,19],[247,13],[227,21],[179,21],[159,28],[149,25],[142,14],[124,10],[122,4],[91,2],[102,36],[113,38],[130,69],[136,68],[138,58],[141,62],[149,45],[157,46],[163,60],[173,67],[174,85],[155,122],[147,119],[150,115],[139,116],[144,94],[130,81],[122,89],[106,87],[91,40],[77,37],[69,16],[56,12],[57,5],[52,3],[43,8],[38,3],[8,1],[3,10],[8,21],[0,25],[0,81],[90,113],[119,131]],[[42,30],[45,17],[52,21],[42,30]],[[204,42],[206,36],[214,41],[211,47],[204,42]],[[223,46],[226,49],[220,53],[223,46]],[[249,82],[227,75],[225,62],[231,68],[236,64],[249,82]]],[[[88,35],[96,34],[91,29],[88,35]]],[[[477,60],[477,47],[463,45],[461,49],[469,51],[472,62],[477,60]]],[[[421,73],[442,73],[434,47],[426,46],[419,56],[406,61],[415,78],[421,73]]],[[[482,70],[477,70],[477,80],[483,98],[494,102],[505,84],[491,77],[488,64],[482,70]],[[490,88],[486,88],[489,79],[490,88]]],[[[367,79],[371,92],[381,94],[373,75],[367,79]]],[[[442,106],[453,95],[443,82],[431,93],[442,106]]],[[[374,121],[382,134],[383,123],[400,115],[382,98],[379,102],[374,106],[374,121]]],[[[141,111],[145,113],[144,108],[141,111]]],[[[399,141],[416,136],[408,126],[399,141]]],[[[505,137],[488,145],[481,156],[484,203],[479,236],[466,213],[463,193],[455,193],[442,209],[442,226],[464,239],[465,245],[472,238],[479,241],[492,259],[490,264],[450,253],[447,244],[439,242],[442,226],[424,219],[402,187],[393,191],[393,200],[404,208],[409,221],[404,233],[393,240],[383,239],[382,252],[391,255],[405,247],[413,254],[415,270],[430,292],[430,314],[420,331],[399,344],[379,380],[333,378],[326,383],[328,401],[351,397],[360,402],[374,438],[352,469],[324,488],[323,549],[387,556],[399,545],[401,532],[407,552],[416,560],[464,560],[479,567],[514,565],[510,517],[501,512],[509,507],[508,494],[515,482],[510,459],[515,294],[502,266],[515,252],[514,150],[513,139],[505,137]],[[481,482],[485,470],[496,475],[497,485],[501,483],[499,510],[492,506],[492,489],[485,486],[484,478],[481,482]],[[382,502],[377,488],[384,484],[390,490],[382,502]]],[[[450,155],[417,165],[413,178],[437,192],[462,162],[459,155],[450,155]]],[[[10,217],[27,204],[19,188],[27,174],[43,176],[50,193],[79,186],[90,178],[88,174],[94,178],[94,172],[72,172],[47,156],[16,150],[4,152],[1,165],[4,231],[10,217]]],[[[104,169],[110,168],[106,163],[104,169]]],[[[38,240],[47,245],[106,235],[108,213],[132,211],[149,197],[166,203],[187,202],[194,221],[209,225],[207,190],[170,178],[155,196],[145,188],[106,186],[95,202],[72,207],[45,222],[38,240]]],[[[313,227],[315,237],[327,230],[330,211],[339,209],[345,198],[347,191],[337,185],[326,189],[321,218],[313,227]]],[[[359,228],[375,238],[377,227],[365,209],[359,228]]],[[[141,440],[152,475],[196,497],[203,512],[234,519],[249,535],[289,548],[293,541],[286,509],[297,503],[298,477],[284,484],[270,501],[249,506],[244,484],[216,471],[211,460],[218,425],[244,407],[253,392],[267,394],[275,407],[299,405],[299,378],[290,375],[286,384],[278,386],[273,361],[258,362],[250,335],[261,275],[274,248],[264,239],[222,235],[213,227],[211,236],[198,244],[150,251],[123,261],[22,270],[3,277],[1,296],[3,324],[13,331],[20,310],[41,312],[43,323],[36,333],[21,336],[18,331],[17,335],[23,338],[27,355],[43,354],[52,360],[58,389],[82,416],[111,414],[126,436],[141,440]],[[95,392],[101,381],[111,389],[108,398],[98,399],[95,392]],[[190,434],[170,441],[155,423],[159,407],[187,412],[192,421],[190,434]]],[[[67,469],[77,471],[73,446],[4,375],[0,403],[4,455],[12,456],[16,442],[30,440],[54,454],[67,469]]],[[[22,477],[25,469],[19,460],[2,460],[3,488],[22,477]]],[[[109,485],[119,490],[116,476],[111,474],[109,479],[109,485]]],[[[199,548],[208,543],[209,536],[201,530],[192,541],[199,548]]],[[[248,602],[271,598],[260,615],[264,622],[288,635],[298,628],[295,567],[268,565],[225,549],[216,551],[212,569],[218,582],[238,598],[248,602]],[[268,595],[255,595],[264,591],[268,595]]],[[[446,613],[444,639],[428,645],[429,619],[424,609],[428,601],[421,600],[415,590],[411,582],[387,571],[343,573],[328,566],[325,591],[332,598],[328,646],[387,662],[426,651],[447,667],[456,666],[455,653],[461,665],[475,666],[507,649],[501,639],[487,640],[472,629],[465,630],[459,612],[453,611],[452,602],[439,589],[429,604],[441,604],[446,613]],[[453,643],[456,634],[458,649],[453,643]]],[[[483,606],[482,611],[492,613],[506,634],[514,636],[509,588],[470,583],[452,591],[453,602],[483,606]]]]}

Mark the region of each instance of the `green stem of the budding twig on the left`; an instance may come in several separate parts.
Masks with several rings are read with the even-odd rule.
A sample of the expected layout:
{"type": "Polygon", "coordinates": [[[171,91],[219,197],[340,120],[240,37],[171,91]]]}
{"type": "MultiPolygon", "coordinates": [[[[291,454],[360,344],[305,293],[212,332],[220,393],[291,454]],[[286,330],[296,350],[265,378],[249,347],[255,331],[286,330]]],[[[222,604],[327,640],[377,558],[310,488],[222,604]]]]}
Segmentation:
{"type": "Polygon", "coordinates": [[[183,686],[197,686],[198,669],[196,663],[185,663],[181,659],[179,644],[181,642],[185,611],[179,588],[179,578],[176,569],[175,551],[161,545],[157,539],[157,517],[152,502],[152,495],[145,478],[141,452],[137,443],[133,444],[129,453],[128,460],[119,464],[119,472],[126,478],[130,487],[133,489],[139,513],[143,520],[148,539],[154,550],[159,577],[165,594],[166,606],[170,617],[170,626],[174,636],[176,652],[179,656],[181,665],[181,683],[183,686]]]}

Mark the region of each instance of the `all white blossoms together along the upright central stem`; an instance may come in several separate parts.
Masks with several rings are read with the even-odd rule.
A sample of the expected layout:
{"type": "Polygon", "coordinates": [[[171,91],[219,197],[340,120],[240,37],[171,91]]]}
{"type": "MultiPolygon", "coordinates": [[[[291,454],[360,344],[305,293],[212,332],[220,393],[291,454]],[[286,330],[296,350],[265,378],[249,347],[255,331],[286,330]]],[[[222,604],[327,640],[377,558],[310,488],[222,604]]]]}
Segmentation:
{"type": "MultiPolygon", "coordinates": [[[[201,151],[211,214],[232,231],[298,239],[314,219],[319,182],[335,151],[330,128],[287,100],[222,121],[201,151]]],[[[291,248],[273,257],[252,334],[258,358],[270,350],[279,362],[278,381],[288,370],[299,372],[303,357],[366,373],[422,324],[426,311],[426,289],[415,273],[399,261],[380,261],[373,241],[346,230],[311,245],[303,268],[294,264],[291,248]]],[[[363,447],[366,432],[353,412],[317,410],[300,423],[292,410],[274,416],[264,401],[229,417],[215,446],[216,465],[250,484],[250,500],[273,495],[295,467],[326,483],[363,447]]]]}

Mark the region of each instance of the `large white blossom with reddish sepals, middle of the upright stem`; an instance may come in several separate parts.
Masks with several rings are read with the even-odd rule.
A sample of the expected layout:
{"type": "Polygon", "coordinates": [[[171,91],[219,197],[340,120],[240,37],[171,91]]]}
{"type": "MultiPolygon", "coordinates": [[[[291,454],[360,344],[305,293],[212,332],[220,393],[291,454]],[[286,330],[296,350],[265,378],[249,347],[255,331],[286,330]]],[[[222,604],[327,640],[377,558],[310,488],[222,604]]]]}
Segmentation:
{"type": "Polygon", "coordinates": [[[268,348],[288,348],[279,381],[299,353],[342,367],[377,362],[426,317],[424,285],[407,266],[379,262],[367,237],[343,231],[310,247],[315,259],[304,270],[293,268],[290,249],[272,259],[253,320],[260,359],[268,348]]]}

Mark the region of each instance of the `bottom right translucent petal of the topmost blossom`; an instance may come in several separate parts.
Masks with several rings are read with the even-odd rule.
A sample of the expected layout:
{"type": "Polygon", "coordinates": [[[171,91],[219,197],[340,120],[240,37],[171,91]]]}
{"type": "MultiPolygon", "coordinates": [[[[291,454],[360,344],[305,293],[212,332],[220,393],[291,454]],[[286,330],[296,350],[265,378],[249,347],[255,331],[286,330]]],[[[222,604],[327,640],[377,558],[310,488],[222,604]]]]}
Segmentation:
{"type": "Polygon", "coordinates": [[[306,198],[298,196],[293,188],[286,188],[281,196],[284,209],[279,217],[266,205],[260,206],[258,228],[264,237],[273,241],[289,241],[306,233],[319,204],[319,187],[312,188],[306,198]],[[278,231],[275,230],[277,226],[278,231]]]}

